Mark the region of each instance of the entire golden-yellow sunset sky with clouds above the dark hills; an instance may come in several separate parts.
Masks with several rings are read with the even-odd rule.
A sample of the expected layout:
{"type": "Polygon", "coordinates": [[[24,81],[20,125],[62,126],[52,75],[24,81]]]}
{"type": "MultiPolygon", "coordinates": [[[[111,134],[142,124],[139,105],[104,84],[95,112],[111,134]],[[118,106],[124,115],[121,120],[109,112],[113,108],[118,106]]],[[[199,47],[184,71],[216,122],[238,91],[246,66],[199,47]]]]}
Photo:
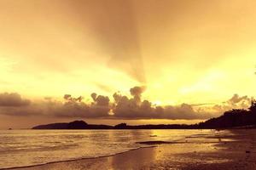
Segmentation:
{"type": "Polygon", "coordinates": [[[256,94],[255,7],[0,0],[0,128],[195,123],[247,108],[256,94]]]}

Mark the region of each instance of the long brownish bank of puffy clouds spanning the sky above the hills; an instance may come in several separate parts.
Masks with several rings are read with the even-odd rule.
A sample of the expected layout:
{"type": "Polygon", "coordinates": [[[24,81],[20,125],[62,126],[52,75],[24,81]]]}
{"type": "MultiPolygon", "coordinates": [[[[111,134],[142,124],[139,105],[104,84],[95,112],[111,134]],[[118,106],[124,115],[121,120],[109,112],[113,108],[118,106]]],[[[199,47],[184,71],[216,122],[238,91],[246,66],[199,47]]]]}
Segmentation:
{"type": "Polygon", "coordinates": [[[45,98],[41,101],[22,99],[20,94],[0,94],[0,114],[9,116],[54,116],[107,119],[207,119],[218,116],[224,111],[247,108],[253,98],[234,96],[221,105],[153,105],[142,99],[145,87],[130,89],[131,96],[113,94],[113,101],[108,96],[92,93],[91,102],[84,98],[74,98],[65,94],[62,100],[45,98]]]}

